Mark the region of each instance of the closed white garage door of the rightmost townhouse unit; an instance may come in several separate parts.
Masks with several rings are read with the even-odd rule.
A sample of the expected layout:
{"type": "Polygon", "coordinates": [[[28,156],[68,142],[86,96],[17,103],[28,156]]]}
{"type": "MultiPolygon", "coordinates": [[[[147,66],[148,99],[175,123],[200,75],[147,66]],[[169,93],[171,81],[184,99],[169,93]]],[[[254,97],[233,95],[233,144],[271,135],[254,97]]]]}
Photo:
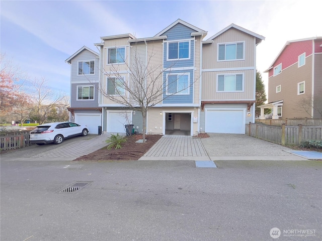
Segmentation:
{"type": "Polygon", "coordinates": [[[206,109],[205,132],[245,134],[245,110],[206,109]]]}

